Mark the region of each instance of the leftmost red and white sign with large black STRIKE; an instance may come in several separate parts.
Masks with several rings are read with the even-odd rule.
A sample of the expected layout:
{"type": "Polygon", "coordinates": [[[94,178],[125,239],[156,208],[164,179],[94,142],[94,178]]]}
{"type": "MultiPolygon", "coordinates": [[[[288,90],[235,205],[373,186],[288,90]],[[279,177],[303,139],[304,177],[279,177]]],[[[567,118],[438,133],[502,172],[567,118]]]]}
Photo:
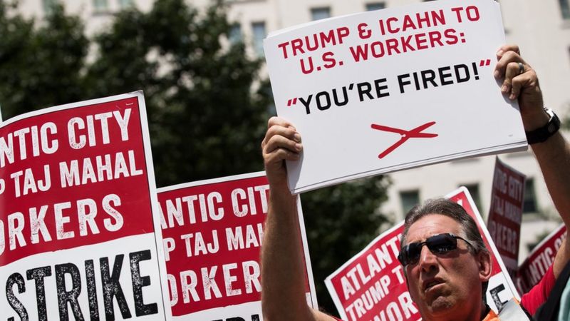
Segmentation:
{"type": "Polygon", "coordinates": [[[170,320],[142,92],[0,124],[7,320],[170,320]]]}

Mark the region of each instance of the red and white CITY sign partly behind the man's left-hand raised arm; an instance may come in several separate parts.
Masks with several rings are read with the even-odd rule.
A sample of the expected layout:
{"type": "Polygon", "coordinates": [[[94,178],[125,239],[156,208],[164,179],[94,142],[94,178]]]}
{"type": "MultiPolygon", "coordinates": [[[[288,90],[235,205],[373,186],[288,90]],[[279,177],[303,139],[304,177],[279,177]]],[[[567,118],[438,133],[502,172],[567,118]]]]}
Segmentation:
{"type": "MultiPolygon", "coordinates": [[[[263,320],[265,173],[160,188],[158,200],[174,320],[263,320]]],[[[300,201],[297,208],[307,303],[317,307],[300,201]]]]}

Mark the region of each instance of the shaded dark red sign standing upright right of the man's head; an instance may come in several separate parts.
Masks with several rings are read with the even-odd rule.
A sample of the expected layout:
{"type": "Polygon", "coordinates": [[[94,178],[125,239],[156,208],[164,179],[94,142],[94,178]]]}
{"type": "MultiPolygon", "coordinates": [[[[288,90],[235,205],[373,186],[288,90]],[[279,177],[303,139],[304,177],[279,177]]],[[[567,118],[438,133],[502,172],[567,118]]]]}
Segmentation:
{"type": "Polygon", "coordinates": [[[524,174],[496,158],[487,226],[511,275],[519,265],[524,180],[524,174]]]}

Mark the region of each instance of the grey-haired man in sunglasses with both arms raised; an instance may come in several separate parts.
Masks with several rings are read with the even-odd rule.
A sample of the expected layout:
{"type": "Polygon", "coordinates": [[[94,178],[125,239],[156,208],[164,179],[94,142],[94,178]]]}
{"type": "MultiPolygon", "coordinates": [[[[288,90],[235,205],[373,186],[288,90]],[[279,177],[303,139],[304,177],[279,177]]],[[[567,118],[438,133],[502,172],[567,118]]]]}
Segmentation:
{"type": "MultiPolygon", "coordinates": [[[[494,76],[502,79],[501,91],[507,98],[518,99],[527,138],[567,227],[570,171],[564,168],[570,164],[570,146],[557,131],[558,118],[544,111],[537,75],[519,56],[519,48],[502,46],[497,58],[494,76]]],[[[265,320],[333,320],[311,310],[303,295],[302,253],[294,233],[296,196],[289,192],[285,167],[285,161],[299,160],[301,136],[291,123],[271,118],[261,147],[271,190],[261,257],[265,320]]],[[[416,208],[408,213],[399,258],[410,295],[423,320],[493,320],[496,315],[481,295],[491,270],[489,255],[480,248],[477,235],[469,233],[470,223],[462,223],[463,215],[454,213],[445,206],[416,208]]],[[[568,263],[567,242],[559,248],[539,285],[523,296],[522,306],[531,314],[544,302],[568,263]]]]}

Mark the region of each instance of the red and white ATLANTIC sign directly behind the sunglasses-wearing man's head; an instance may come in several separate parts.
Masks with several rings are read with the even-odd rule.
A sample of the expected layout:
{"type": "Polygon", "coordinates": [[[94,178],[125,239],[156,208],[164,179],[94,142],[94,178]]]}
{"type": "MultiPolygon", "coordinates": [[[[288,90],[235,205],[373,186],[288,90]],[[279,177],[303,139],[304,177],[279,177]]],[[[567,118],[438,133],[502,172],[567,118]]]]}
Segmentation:
{"type": "MultiPolygon", "coordinates": [[[[475,219],[493,260],[487,288],[487,304],[493,310],[515,297],[520,300],[467,188],[446,195],[475,219]]],[[[420,313],[410,297],[403,268],[398,262],[404,223],[379,235],[361,253],[329,275],[326,287],[343,320],[419,320],[420,313]]]]}

